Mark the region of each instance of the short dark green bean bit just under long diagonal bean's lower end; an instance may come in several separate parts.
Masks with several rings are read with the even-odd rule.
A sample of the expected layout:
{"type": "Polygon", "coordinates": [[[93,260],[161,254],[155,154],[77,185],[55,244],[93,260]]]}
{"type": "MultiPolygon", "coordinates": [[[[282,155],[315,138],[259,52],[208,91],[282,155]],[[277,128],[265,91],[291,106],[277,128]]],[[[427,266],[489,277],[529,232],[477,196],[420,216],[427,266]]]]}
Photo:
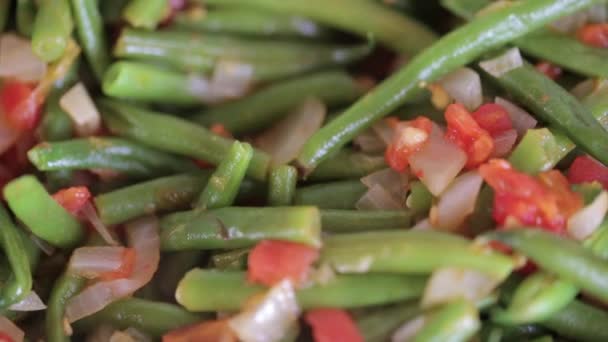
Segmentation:
{"type": "Polygon", "coordinates": [[[359,179],[384,168],[386,168],[384,156],[374,156],[344,149],[319,164],[315,171],[310,174],[309,179],[313,181],[359,179]]]}

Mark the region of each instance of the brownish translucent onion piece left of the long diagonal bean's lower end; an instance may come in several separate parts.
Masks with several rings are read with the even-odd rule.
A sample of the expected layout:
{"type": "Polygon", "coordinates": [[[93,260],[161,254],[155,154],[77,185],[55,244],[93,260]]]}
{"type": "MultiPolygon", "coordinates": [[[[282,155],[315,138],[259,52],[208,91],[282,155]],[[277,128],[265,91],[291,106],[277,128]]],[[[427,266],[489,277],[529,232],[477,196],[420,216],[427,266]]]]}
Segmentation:
{"type": "Polygon", "coordinates": [[[327,109],[317,98],[308,98],[284,119],[264,131],[257,139],[257,146],[272,157],[275,165],[294,160],[308,138],[325,120],[327,109]]]}

